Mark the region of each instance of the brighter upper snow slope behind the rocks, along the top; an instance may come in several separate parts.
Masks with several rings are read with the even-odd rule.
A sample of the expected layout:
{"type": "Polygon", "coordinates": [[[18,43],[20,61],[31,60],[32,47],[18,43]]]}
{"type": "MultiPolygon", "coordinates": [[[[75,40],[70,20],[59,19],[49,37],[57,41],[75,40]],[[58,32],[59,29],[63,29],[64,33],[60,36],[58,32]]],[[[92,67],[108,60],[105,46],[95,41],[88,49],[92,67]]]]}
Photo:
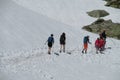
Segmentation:
{"type": "Polygon", "coordinates": [[[105,19],[120,22],[120,10],[105,7],[103,0],[14,0],[19,5],[35,12],[46,15],[52,19],[72,26],[90,24],[95,18],[87,16],[86,12],[94,9],[104,9],[110,13],[105,19]],[[83,16],[84,15],[84,16],[83,16]],[[114,18],[113,18],[114,16],[114,18]]]}

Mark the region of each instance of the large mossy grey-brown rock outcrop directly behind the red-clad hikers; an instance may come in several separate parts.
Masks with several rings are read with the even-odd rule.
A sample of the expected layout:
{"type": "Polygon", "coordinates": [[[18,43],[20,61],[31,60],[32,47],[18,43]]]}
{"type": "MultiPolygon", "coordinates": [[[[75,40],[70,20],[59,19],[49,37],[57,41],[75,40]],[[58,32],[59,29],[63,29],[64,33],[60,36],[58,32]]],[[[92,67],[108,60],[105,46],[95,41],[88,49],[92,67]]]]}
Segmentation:
{"type": "Polygon", "coordinates": [[[112,20],[98,19],[92,24],[84,26],[83,29],[98,34],[102,30],[106,30],[108,37],[120,39],[120,23],[113,23],[112,20]]]}

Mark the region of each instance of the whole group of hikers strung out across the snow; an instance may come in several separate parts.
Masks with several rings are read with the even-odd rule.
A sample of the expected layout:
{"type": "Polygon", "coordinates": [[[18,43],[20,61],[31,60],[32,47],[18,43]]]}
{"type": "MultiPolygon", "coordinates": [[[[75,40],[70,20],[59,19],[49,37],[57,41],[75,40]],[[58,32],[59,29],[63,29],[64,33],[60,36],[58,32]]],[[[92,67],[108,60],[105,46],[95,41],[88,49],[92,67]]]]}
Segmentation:
{"type": "MultiPolygon", "coordinates": [[[[50,37],[48,38],[47,40],[47,43],[48,43],[48,54],[51,54],[51,48],[54,44],[54,35],[51,34],[50,37]]],[[[63,32],[61,35],[60,35],[60,53],[61,52],[65,52],[65,44],[66,44],[66,34],[65,32],[63,32]]],[[[89,44],[92,44],[90,41],[89,41],[89,36],[85,36],[84,39],[83,39],[83,50],[82,50],[82,53],[87,53],[87,49],[88,49],[88,43],[89,44]]],[[[103,30],[100,34],[99,34],[99,37],[95,40],[95,48],[96,48],[96,53],[100,52],[102,53],[102,51],[104,51],[105,49],[105,44],[106,44],[106,31],[103,30]]]]}

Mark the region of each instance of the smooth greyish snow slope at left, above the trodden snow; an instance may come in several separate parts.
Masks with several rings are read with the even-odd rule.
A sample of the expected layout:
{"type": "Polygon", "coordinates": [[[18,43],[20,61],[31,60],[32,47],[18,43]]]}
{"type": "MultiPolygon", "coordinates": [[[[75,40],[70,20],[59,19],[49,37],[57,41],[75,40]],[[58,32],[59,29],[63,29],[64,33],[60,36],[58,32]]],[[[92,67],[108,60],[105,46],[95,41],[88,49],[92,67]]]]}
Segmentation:
{"type": "Polygon", "coordinates": [[[38,47],[44,45],[51,33],[59,35],[66,31],[69,34],[72,30],[13,1],[1,0],[1,4],[0,51],[38,47]]]}

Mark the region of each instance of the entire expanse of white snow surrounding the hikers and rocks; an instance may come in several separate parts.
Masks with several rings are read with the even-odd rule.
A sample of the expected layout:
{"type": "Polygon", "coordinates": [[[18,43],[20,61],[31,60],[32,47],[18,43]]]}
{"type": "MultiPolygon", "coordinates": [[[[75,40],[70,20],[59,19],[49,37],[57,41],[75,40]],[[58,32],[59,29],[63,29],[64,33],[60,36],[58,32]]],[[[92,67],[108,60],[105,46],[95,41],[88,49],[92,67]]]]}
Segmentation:
{"type": "Polygon", "coordinates": [[[107,38],[111,49],[95,54],[98,35],[81,29],[95,20],[86,14],[94,9],[105,9],[110,13],[105,19],[120,21],[120,10],[101,0],[0,0],[0,80],[120,80],[120,41],[107,38]],[[62,32],[71,55],[54,54],[62,32]],[[51,33],[55,44],[48,55],[44,43],[51,33]],[[81,53],[85,35],[92,42],[88,54],[81,53]]]}

